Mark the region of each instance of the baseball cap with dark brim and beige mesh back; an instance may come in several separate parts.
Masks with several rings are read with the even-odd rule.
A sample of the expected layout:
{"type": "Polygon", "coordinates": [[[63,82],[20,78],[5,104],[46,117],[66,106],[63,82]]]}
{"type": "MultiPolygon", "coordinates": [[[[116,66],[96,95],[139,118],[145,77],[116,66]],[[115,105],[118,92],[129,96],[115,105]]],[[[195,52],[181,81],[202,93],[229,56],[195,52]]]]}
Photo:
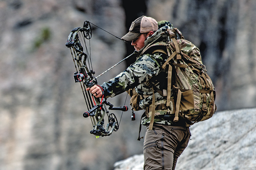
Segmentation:
{"type": "Polygon", "coordinates": [[[142,16],[134,20],[131,24],[129,32],[125,34],[122,39],[132,41],[136,39],[141,33],[158,30],[157,21],[151,17],[142,16]]]}

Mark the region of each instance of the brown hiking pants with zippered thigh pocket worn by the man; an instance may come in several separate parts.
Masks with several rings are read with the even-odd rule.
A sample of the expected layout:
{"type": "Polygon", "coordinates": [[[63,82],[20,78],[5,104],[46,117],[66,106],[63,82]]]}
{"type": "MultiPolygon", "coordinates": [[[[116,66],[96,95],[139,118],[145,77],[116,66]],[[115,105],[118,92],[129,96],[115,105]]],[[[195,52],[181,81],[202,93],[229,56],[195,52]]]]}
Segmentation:
{"type": "Polygon", "coordinates": [[[144,170],[175,170],[178,157],[187,147],[189,127],[154,125],[147,127],[144,140],[144,170]]]}

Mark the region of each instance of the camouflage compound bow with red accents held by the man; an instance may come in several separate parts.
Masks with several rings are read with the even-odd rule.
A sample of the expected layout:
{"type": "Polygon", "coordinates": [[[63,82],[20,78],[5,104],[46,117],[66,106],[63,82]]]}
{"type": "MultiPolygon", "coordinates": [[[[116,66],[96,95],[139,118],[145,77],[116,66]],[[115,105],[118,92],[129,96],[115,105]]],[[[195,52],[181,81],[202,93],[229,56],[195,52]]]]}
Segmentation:
{"type": "Polygon", "coordinates": [[[95,135],[96,137],[103,137],[109,136],[113,131],[117,131],[119,129],[119,124],[116,116],[113,113],[109,114],[107,106],[109,106],[109,110],[121,111],[127,111],[128,107],[114,107],[113,104],[109,103],[108,101],[106,101],[106,99],[104,99],[104,96],[102,96],[101,99],[96,98],[89,91],[86,91],[86,87],[92,87],[93,85],[97,85],[96,78],[99,77],[94,77],[95,72],[92,70],[90,53],[88,52],[86,46],[86,39],[89,40],[91,36],[92,29],[90,26],[90,22],[85,21],[83,24],[83,28],[77,27],[71,30],[67,38],[66,47],[70,49],[76,69],[76,72],[73,76],[74,81],[75,83],[80,83],[88,110],[83,113],[83,117],[90,117],[91,119],[93,129],[90,131],[90,133],[95,135]],[[108,124],[106,125],[106,127],[104,125],[105,115],[107,115],[108,118],[108,124]]]}

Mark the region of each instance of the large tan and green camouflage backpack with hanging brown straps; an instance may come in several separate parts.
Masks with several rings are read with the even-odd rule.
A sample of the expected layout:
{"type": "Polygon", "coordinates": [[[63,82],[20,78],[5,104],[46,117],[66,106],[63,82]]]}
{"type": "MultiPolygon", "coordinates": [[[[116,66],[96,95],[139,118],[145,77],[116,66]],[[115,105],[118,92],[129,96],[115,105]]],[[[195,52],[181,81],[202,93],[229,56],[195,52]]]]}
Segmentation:
{"type": "MultiPolygon", "coordinates": [[[[150,49],[152,53],[162,52],[168,55],[162,69],[168,70],[167,106],[171,101],[171,93],[175,96],[174,122],[181,117],[190,126],[211,118],[217,109],[216,94],[212,81],[202,64],[199,49],[190,41],[185,40],[177,28],[167,29],[165,33],[169,35],[167,42],[153,42],[145,47],[142,53],[150,49]]],[[[153,89],[163,95],[161,90],[154,85],[153,89]]],[[[153,92],[150,127],[154,122],[154,100],[153,92]]]]}

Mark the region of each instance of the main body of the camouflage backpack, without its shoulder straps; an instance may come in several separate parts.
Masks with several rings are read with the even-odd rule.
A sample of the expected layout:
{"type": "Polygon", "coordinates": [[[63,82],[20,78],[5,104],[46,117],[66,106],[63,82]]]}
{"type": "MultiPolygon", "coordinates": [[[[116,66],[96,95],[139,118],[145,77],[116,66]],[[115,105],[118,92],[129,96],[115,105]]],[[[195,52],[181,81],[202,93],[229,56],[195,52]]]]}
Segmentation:
{"type": "MultiPolygon", "coordinates": [[[[211,79],[206,74],[206,70],[204,70],[204,66],[202,65],[199,49],[190,41],[184,39],[179,39],[177,42],[181,51],[190,57],[188,58],[184,56],[191,63],[187,69],[175,67],[176,86],[183,91],[180,104],[180,117],[183,117],[191,122],[195,121],[197,117],[201,115],[203,104],[205,104],[207,111],[204,113],[205,115],[201,115],[202,119],[200,121],[209,119],[216,110],[213,92],[200,93],[200,90],[207,89],[211,91],[214,90],[214,87],[211,79]],[[197,69],[200,71],[200,73],[193,71],[192,69],[197,69]],[[208,87],[206,87],[206,83],[202,79],[201,75],[205,76],[208,87]],[[205,100],[204,102],[203,99],[205,100]]],[[[173,46],[170,46],[169,49],[174,50],[172,47],[173,46]]],[[[171,51],[171,53],[172,52],[173,51],[171,51]]],[[[177,60],[176,58],[173,58],[172,62],[175,64],[187,65],[184,60],[177,60]]]]}

